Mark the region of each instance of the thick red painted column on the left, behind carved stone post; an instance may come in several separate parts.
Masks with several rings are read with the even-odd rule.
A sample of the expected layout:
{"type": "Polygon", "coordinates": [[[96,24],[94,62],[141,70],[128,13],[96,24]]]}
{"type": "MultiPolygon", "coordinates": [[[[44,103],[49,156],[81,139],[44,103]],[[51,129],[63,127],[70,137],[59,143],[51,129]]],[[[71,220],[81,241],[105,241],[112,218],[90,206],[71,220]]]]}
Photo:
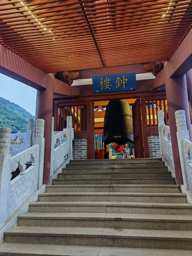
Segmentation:
{"type": "Polygon", "coordinates": [[[50,159],[51,159],[51,134],[52,134],[52,111],[53,111],[53,79],[52,74],[47,74],[47,89],[37,91],[35,119],[45,120],[44,138],[44,170],[43,184],[50,184],[50,159]]]}

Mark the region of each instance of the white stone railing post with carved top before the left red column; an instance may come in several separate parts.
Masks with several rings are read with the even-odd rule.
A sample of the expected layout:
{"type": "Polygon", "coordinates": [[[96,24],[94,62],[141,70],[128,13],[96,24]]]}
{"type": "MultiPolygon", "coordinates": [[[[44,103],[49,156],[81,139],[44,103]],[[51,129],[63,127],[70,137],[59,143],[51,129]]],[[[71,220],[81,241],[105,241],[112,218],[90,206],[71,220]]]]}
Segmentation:
{"type": "Polygon", "coordinates": [[[37,189],[41,188],[43,184],[44,149],[45,149],[44,124],[45,124],[44,119],[37,119],[36,134],[34,138],[34,145],[39,144],[40,146],[37,189]]]}

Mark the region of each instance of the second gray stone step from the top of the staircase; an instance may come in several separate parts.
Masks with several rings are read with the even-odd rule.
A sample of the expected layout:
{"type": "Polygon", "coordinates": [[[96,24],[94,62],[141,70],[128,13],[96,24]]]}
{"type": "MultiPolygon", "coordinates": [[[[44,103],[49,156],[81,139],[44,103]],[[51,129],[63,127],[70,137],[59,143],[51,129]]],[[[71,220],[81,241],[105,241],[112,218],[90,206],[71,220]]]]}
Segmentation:
{"type": "MultiPolygon", "coordinates": [[[[159,170],[163,170],[166,169],[167,170],[167,166],[164,166],[163,163],[160,163],[161,165],[159,166],[158,163],[155,164],[66,164],[66,169],[139,169],[142,170],[143,168],[146,169],[159,169],[159,170]]],[[[139,171],[138,170],[138,171],[139,171]]]]}

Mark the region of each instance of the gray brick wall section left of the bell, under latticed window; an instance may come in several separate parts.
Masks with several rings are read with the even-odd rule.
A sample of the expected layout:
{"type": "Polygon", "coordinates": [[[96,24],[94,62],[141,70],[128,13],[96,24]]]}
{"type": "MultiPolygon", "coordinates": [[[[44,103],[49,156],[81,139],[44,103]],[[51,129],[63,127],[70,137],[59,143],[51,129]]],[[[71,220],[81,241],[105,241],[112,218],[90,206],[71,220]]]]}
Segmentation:
{"type": "MultiPolygon", "coordinates": [[[[74,150],[74,149],[73,149],[74,150]]],[[[87,159],[87,139],[75,139],[75,160],[87,159]]]]}

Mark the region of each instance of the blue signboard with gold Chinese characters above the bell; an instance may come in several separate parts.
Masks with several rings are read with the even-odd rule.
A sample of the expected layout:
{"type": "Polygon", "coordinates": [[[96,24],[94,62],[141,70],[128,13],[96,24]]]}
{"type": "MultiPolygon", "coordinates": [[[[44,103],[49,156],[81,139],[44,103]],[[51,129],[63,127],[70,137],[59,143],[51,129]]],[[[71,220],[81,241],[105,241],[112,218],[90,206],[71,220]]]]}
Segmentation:
{"type": "Polygon", "coordinates": [[[93,92],[122,92],[136,90],[136,73],[93,76],[93,92]]]}

